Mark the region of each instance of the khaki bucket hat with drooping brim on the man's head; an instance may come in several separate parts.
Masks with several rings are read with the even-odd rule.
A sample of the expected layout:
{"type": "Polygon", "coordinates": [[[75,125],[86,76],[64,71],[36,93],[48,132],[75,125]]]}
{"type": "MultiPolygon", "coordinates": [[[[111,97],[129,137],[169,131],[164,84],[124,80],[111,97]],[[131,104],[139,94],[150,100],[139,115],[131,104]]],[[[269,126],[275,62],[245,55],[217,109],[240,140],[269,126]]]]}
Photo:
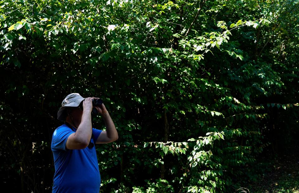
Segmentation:
{"type": "Polygon", "coordinates": [[[61,103],[62,107],[59,108],[59,111],[57,113],[57,119],[60,121],[65,121],[66,119],[65,109],[67,107],[78,107],[84,99],[85,98],[83,98],[78,93],[72,93],[67,95],[61,103]]]}

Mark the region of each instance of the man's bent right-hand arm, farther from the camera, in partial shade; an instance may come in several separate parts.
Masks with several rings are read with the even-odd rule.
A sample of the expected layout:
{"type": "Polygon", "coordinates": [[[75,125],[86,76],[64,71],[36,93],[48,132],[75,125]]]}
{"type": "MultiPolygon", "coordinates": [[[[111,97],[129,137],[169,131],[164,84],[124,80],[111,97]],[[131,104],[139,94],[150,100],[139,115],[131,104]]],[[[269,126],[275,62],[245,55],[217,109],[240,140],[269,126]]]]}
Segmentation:
{"type": "Polygon", "coordinates": [[[118,139],[118,134],[116,131],[116,128],[114,126],[114,123],[106,110],[104,104],[102,104],[100,107],[96,107],[98,112],[102,114],[102,117],[104,119],[105,125],[106,125],[106,131],[102,131],[101,134],[98,136],[96,144],[100,143],[110,143],[118,139]]]}

